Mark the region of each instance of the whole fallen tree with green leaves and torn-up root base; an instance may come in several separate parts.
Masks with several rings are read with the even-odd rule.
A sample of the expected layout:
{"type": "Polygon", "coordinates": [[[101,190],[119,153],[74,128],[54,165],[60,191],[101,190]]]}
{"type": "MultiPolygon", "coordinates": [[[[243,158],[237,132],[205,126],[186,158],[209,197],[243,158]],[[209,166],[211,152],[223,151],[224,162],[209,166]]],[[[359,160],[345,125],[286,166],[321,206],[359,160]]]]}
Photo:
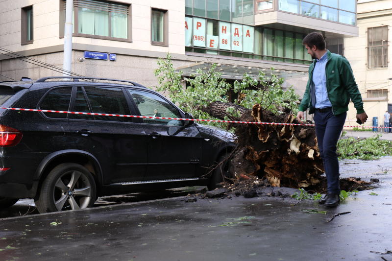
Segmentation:
{"type": "MultiPolygon", "coordinates": [[[[198,70],[181,85],[181,71],[174,71],[170,55],[158,61],[156,88],[170,96],[184,111],[197,119],[228,119],[257,122],[298,123],[294,117],[298,96],[281,87],[283,79],[260,72],[258,78],[244,74],[234,86],[227,84],[216,65],[198,70]],[[238,98],[227,99],[228,92],[238,98]]],[[[314,189],[324,172],[311,126],[226,124],[236,134],[237,150],[232,153],[232,175],[267,178],[271,186],[314,189]]]]}

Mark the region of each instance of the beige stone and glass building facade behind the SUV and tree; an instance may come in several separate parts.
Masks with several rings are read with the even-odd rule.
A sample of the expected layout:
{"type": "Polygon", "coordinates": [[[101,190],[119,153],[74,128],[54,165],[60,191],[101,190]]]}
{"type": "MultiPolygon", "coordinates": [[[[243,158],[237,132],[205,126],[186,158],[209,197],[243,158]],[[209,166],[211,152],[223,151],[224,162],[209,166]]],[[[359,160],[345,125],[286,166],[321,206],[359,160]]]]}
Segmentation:
{"type": "MultiPolygon", "coordinates": [[[[0,80],[61,76],[65,0],[3,0],[0,12],[0,80]]],[[[343,54],[356,12],[355,0],[73,0],[72,71],[155,86],[171,53],[184,76],[217,63],[230,82],[274,67],[302,95],[303,37],[319,31],[343,54]]]]}

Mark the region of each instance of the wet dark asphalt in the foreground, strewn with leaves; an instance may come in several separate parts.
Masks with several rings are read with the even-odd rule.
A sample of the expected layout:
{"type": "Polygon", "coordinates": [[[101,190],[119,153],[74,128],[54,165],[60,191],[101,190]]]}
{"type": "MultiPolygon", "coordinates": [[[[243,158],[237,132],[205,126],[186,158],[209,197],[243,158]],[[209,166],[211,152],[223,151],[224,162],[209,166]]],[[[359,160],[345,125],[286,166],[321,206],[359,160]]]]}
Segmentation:
{"type": "Polygon", "coordinates": [[[343,177],[380,183],[336,209],[292,198],[174,197],[3,218],[0,260],[392,261],[370,252],[392,251],[391,163],[342,161],[343,177]],[[343,212],[351,213],[328,222],[343,212]]]}

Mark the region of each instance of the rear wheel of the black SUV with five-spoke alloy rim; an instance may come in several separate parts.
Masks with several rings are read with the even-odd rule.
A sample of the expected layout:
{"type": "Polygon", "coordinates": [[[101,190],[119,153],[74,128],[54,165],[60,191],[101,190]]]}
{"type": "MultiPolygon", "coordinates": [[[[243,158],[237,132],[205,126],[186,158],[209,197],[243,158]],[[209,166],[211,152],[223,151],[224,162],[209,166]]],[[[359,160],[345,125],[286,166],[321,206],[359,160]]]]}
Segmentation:
{"type": "Polygon", "coordinates": [[[75,163],[54,167],[45,178],[35,205],[40,213],[90,208],[97,186],[90,171],[75,163]]]}

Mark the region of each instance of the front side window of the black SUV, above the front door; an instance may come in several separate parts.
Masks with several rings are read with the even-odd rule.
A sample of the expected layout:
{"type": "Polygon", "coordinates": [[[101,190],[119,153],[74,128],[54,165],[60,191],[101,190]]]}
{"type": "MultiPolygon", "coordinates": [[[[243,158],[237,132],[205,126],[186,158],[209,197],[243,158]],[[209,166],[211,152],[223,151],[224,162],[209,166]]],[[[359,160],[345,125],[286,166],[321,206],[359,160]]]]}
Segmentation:
{"type": "MultiPolygon", "coordinates": [[[[127,89],[139,109],[141,116],[182,118],[180,112],[165,99],[153,93],[127,89]]],[[[146,119],[144,123],[183,126],[182,120],[146,119]]]]}

